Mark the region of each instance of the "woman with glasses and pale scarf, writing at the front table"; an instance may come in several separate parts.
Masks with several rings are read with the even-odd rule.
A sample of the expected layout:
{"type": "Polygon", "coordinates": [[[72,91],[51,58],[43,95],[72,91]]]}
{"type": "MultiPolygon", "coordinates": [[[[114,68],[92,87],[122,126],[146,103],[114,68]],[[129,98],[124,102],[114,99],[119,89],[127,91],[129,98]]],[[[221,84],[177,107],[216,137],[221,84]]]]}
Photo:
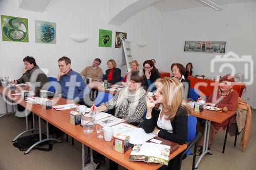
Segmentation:
{"type": "MultiPolygon", "coordinates": [[[[101,104],[101,106],[92,106],[91,109],[97,111],[108,111],[115,108],[115,116],[123,118],[126,123],[137,126],[143,121],[143,114],[146,111],[146,91],[142,87],[145,77],[141,71],[133,71],[131,77],[127,80],[128,85],[118,91],[114,97],[101,104]]],[[[96,169],[104,156],[97,154],[92,163],[89,163],[85,169],[96,169]]],[[[110,169],[118,169],[118,164],[110,160],[110,169]]]]}

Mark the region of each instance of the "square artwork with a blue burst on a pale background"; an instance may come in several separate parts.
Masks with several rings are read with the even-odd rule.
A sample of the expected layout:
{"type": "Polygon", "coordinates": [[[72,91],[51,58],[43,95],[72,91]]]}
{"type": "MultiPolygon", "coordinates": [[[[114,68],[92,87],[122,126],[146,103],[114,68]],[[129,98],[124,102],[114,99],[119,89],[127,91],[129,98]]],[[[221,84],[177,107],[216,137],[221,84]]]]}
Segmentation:
{"type": "Polygon", "coordinates": [[[56,23],[35,20],[35,42],[56,44],[56,23]]]}

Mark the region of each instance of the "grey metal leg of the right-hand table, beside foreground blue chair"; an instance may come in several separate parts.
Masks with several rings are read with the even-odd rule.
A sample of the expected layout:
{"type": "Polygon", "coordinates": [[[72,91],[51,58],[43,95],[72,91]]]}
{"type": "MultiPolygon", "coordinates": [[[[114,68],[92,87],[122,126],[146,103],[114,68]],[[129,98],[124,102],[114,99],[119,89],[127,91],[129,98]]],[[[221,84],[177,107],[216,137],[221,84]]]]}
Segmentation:
{"type": "Polygon", "coordinates": [[[198,168],[198,165],[201,161],[201,159],[204,157],[205,154],[209,153],[212,155],[212,153],[208,150],[208,143],[209,143],[209,133],[210,133],[210,120],[205,121],[205,127],[204,127],[204,143],[203,143],[203,150],[202,154],[197,160],[195,168],[198,168]]]}

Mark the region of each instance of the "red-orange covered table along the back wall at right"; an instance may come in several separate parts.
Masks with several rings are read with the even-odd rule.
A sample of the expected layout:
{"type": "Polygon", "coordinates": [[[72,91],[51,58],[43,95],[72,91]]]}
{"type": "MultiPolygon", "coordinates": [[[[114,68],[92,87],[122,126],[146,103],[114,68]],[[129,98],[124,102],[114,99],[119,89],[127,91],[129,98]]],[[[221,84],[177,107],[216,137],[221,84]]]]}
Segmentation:
{"type": "MultiPolygon", "coordinates": [[[[208,97],[212,94],[215,87],[219,88],[219,83],[215,80],[197,79],[193,77],[189,77],[188,79],[190,80],[190,88],[199,90],[199,95],[201,96],[208,97]]],[[[244,83],[235,82],[233,89],[236,90],[241,97],[246,86],[244,83]]]]}

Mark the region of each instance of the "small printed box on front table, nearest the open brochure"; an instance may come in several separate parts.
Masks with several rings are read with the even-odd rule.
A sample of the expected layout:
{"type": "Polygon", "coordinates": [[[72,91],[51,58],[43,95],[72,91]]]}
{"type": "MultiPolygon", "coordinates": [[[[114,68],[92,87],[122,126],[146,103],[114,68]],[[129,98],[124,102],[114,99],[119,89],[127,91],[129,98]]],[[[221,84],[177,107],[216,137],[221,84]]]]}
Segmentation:
{"type": "Polygon", "coordinates": [[[116,134],[113,137],[114,139],[114,150],[120,153],[124,153],[128,150],[130,136],[116,134]]]}

